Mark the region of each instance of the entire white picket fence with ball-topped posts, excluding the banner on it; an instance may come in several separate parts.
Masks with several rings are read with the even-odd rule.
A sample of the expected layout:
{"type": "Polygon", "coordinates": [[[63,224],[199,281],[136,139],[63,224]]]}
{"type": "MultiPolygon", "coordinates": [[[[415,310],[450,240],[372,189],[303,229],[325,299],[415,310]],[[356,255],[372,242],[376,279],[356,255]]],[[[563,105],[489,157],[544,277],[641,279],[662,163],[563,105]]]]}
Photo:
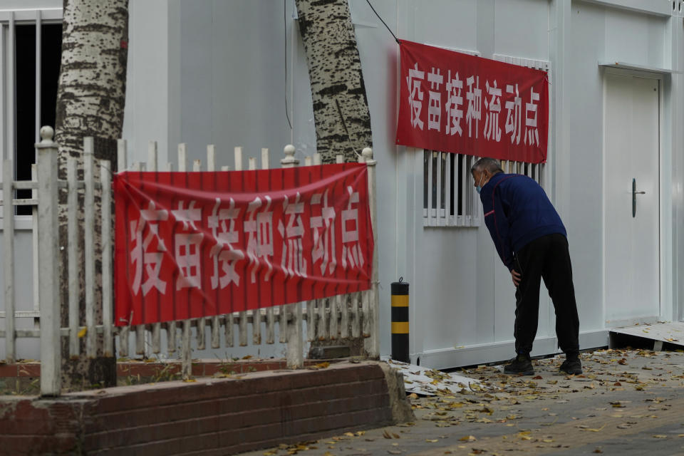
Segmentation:
{"type": "MultiPolygon", "coordinates": [[[[41,393],[43,395],[58,395],[61,388],[60,382],[60,338],[68,337],[70,356],[78,356],[80,352],[80,338],[86,337],[86,356],[94,357],[99,353],[105,356],[113,356],[114,342],[117,340],[118,356],[129,356],[131,351],[138,355],[146,352],[146,343],[149,341],[152,353],[162,353],[162,330],[165,331],[166,351],[170,354],[177,353],[180,345],[180,358],[182,359],[182,375],[187,378],[191,375],[192,341],[195,340],[195,348],[203,350],[207,347],[207,341],[212,348],[232,347],[236,343],[239,346],[259,346],[261,343],[276,343],[276,323],[278,326],[278,341],[286,343],[286,358],[289,367],[297,368],[304,364],[304,337],[307,340],[336,340],[340,338],[365,338],[365,348],[368,356],[377,358],[380,355],[379,322],[378,322],[378,253],[377,234],[375,237],[375,252],[373,252],[373,286],[368,291],[359,293],[333,296],[327,299],[317,299],[285,306],[276,306],[256,311],[240,311],[233,314],[224,314],[206,318],[193,318],[169,323],[154,323],[151,325],[139,325],[133,327],[116,328],[113,325],[113,270],[112,270],[112,214],[111,207],[111,167],[108,161],[101,161],[100,182],[95,182],[95,164],[93,155],[93,138],[84,140],[83,153],[83,180],[78,180],[76,160],[69,158],[67,162],[67,180],[57,178],[57,145],[52,142],[52,129],[41,129],[43,140],[36,145],[38,150],[37,173],[33,180],[23,182],[12,179],[13,166],[10,160],[4,162],[3,167],[3,202],[12,201],[12,204],[3,204],[4,229],[3,243],[5,250],[4,274],[4,331],[0,330],[0,337],[4,337],[6,343],[6,361],[15,361],[16,338],[30,337],[41,338],[41,393]],[[58,246],[58,218],[57,218],[57,194],[58,189],[66,188],[68,192],[68,242],[66,246],[58,246]],[[14,199],[14,190],[32,189],[32,199],[14,199]],[[84,231],[84,256],[85,261],[81,265],[78,262],[78,191],[83,189],[83,231],[84,231]],[[95,214],[93,204],[96,190],[101,191],[103,210],[95,214]],[[15,278],[13,274],[14,257],[14,205],[28,204],[33,206],[33,237],[34,237],[34,277],[36,290],[38,291],[39,312],[17,314],[14,310],[14,295],[12,284],[15,278]],[[95,252],[95,217],[101,220],[102,251],[95,252]],[[60,303],[58,299],[58,249],[68,251],[68,327],[60,328],[60,303]],[[102,259],[102,301],[95,302],[95,258],[102,259]],[[37,266],[37,267],[36,267],[37,266]],[[78,287],[81,276],[85,280],[85,316],[79,313],[78,287]],[[101,306],[102,321],[95,321],[96,306],[101,306]],[[30,315],[29,315],[30,314],[30,315]],[[30,330],[17,330],[16,318],[30,316],[34,318],[36,327],[30,330]],[[306,321],[306,335],[304,334],[304,321],[306,321]],[[85,326],[83,326],[85,322],[85,326]],[[265,326],[265,338],[261,334],[261,325],[265,326]],[[195,328],[195,334],[192,334],[195,328]],[[252,338],[249,339],[251,328],[252,338]],[[85,333],[85,334],[84,334],[85,333]],[[131,336],[131,333],[135,336],[131,336]],[[102,335],[100,338],[98,335],[102,335]],[[207,337],[207,334],[209,336],[207,337]],[[264,340],[265,339],[265,340],[264,340]],[[102,343],[98,346],[98,343],[102,343]]],[[[284,148],[285,157],[280,160],[282,167],[294,167],[299,165],[299,160],[294,157],[294,146],[284,148]]],[[[125,170],[126,166],[126,142],[118,142],[118,168],[125,170]]],[[[207,146],[207,171],[217,169],[217,154],[214,145],[207,146]]],[[[338,157],[338,162],[342,157],[338,157]]],[[[257,169],[257,160],[249,158],[247,169],[257,169]]],[[[371,222],[376,226],[376,201],[375,201],[375,160],[370,148],[363,150],[359,162],[368,165],[368,186],[371,202],[371,222]]],[[[316,154],[306,157],[304,165],[320,165],[321,157],[316,154]]],[[[261,150],[261,169],[270,167],[269,150],[261,150]]],[[[172,165],[167,164],[164,170],[172,170],[172,165]]],[[[157,171],[157,145],[150,142],[147,154],[147,162],[135,162],[130,167],[132,170],[157,171]]],[[[221,170],[229,170],[223,166],[221,170]]],[[[234,148],[233,170],[243,170],[243,151],[241,147],[234,148]]],[[[195,160],[192,171],[201,171],[202,163],[195,160]]],[[[178,145],[178,171],[187,172],[187,150],[185,144],[178,145]]]]}

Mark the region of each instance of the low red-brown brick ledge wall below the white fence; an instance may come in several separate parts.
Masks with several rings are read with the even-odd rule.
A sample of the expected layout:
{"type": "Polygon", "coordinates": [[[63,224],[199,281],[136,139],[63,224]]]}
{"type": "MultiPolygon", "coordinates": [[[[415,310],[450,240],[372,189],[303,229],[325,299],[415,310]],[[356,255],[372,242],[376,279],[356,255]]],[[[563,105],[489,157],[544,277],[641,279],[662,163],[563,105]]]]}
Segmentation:
{"type": "Polygon", "coordinates": [[[380,363],[364,361],[105,388],[55,399],[5,396],[1,452],[233,454],[388,425],[395,420],[392,403],[400,393],[388,390],[380,363]]]}

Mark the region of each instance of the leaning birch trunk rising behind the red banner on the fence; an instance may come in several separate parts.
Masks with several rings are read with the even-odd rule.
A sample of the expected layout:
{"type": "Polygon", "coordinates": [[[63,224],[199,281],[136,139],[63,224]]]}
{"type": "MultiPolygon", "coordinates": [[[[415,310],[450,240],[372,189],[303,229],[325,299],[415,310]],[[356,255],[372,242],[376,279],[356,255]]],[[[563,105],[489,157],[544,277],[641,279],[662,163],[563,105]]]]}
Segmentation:
{"type": "Polygon", "coordinates": [[[324,163],[356,162],[373,147],[371,115],[347,0],[296,0],[314,100],[316,151],[324,163]]]}

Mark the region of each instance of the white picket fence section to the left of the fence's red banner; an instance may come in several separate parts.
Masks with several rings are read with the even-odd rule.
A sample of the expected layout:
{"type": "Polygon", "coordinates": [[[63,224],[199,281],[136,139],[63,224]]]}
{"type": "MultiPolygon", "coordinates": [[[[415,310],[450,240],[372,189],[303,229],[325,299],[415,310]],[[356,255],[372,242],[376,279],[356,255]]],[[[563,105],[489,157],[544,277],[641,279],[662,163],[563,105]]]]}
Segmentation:
{"type": "MultiPolygon", "coordinates": [[[[77,178],[76,158],[67,159],[67,180],[57,177],[57,145],[53,142],[53,129],[41,128],[41,142],[36,145],[36,165],[33,169],[33,180],[15,181],[12,160],[3,162],[2,206],[3,206],[3,247],[4,247],[4,331],[0,337],[5,341],[5,358],[7,363],[16,361],[17,338],[40,338],[41,351],[41,393],[58,395],[61,390],[61,337],[68,337],[71,356],[78,356],[79,338],[86,337],[86,356],[94,357],[98,352],[98,333],[103,333],[103,346],[100,352],[111,356],[113,353],[112,325],[112,246],[111,246],[111,214],[103,210],[99,216],[102,224],[102,301],[95,302],[95,190],[103,190],[102,207],[109,208],[110,163],[100,162],[100,183],[95,185],[95,158],[93,156],[93,138],[86,138],[83,150],[83,180],[77,178]],[[78,192],[83,190],[83,232],[85,263],[78,262],[78,192]],[[15,190],[32,190],[33,198],[16,199],[15,190]],[[59,245],[58,225],[58,193],[66,190],[68,194],[68,235],[66,245],[59,245]],[[8,204],[9,203],[9,204],[8,204]],[[36,309],[30,312],[16,312],[14,288],[17,277],[14,276],[16,255],[14,252],[14,207],[31,205],[33,207],[33,294],[36,309]],[[60,249],[68,252],[68,326],[61,328],[59,263],[60,249]],[[79,311],[79,277],[85,278],[85,316],[86,326],[80,325],[79,311]],[[95,324],[95,307],[102,306],[103,320],[95,324]],[[33,329],[16,329],[17,318],[33,318],[36,325],[33,329]],[[85,333],[84,333],[85,332],[85,333]]],[[[23,254],[24,252],[21,252],[23,254]]],[[[23,279],[23,278],[21,278],[23,279]]]]}

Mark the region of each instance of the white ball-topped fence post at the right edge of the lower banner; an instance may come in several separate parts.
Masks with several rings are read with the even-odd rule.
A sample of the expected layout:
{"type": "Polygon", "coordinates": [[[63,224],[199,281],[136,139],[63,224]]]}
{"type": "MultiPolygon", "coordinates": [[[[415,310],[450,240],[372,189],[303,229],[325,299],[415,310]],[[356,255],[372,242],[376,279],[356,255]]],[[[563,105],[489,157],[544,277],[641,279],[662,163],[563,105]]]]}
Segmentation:
{"type": "Polygon", "coordinates": [[[375,200],[375,165],[373,150],[366,147],[361,151],[368,167],[368,199],[373,227],[373,273],[371,275],[370,337],[366,338],[366,352],[370,358],[380,358],[380,295],[378,294],[378,204],[375,200]]]}

